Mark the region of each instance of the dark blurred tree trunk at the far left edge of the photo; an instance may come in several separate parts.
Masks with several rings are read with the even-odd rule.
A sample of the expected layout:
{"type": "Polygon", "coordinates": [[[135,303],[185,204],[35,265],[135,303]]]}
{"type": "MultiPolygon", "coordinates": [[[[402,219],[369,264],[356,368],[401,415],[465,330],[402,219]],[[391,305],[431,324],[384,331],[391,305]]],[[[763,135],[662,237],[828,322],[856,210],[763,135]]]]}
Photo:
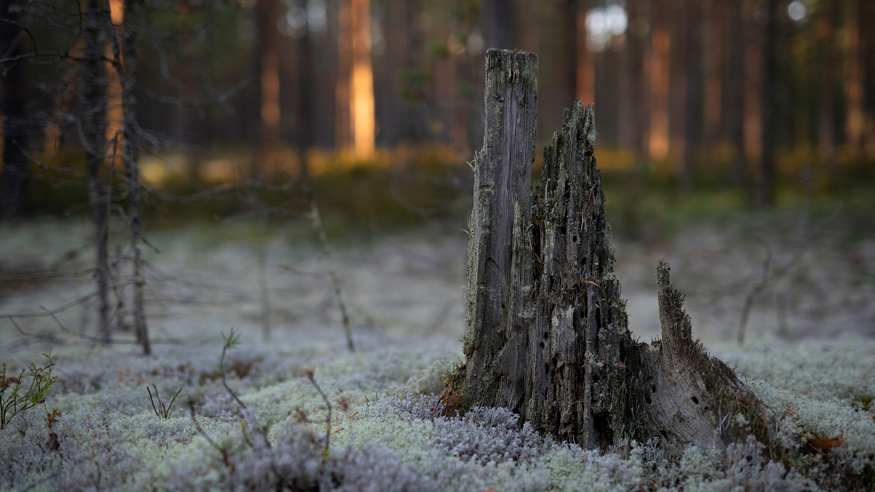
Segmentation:
{"type": "MultiPolygon", "coordinates": [[[[22,53],[25,32],[12,24],[18,21],[18,5],[15,0],[0,0],[0,58],[9,58],[22,53]]],[[[27,61],[17,60],[3,64],[3,94],[0,96],[0,111],[3,112],[3,167],[0,168],[0,218],[22,218],[27,214],[27,197],[30,189],[27,157],[27,61]]]]}

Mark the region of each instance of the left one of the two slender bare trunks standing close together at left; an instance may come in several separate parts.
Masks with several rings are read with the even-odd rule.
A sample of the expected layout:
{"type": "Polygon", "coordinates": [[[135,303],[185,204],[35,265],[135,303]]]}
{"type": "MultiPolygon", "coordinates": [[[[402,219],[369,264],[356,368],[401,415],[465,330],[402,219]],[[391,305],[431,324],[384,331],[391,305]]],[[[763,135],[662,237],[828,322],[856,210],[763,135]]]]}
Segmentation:
{"type": "MultiPolygon", "coordinates": [[[[102,343],[111,341],[109,324],[109,204],[110,197],[104,194],[101,167],[107,158],[107,90],[104,63],[98,58],[103,54],[107,19],[102,11],[102,2],[89,0],[88,14],[82,25],[85,38],[85,54],[82,80],[84,100],[85,140],[88,148],[85,158],[88,163],[88,201],[95,233],[95,281],[97,283],[97,323],[98,337],[102,343]]],[[[115,139],[116,135],[111,137],[115,139]]],[[[116,146],[112,146],[115,157],[116,146]]],[[[111,185],[111,183],[110,183],[111,185]]]]}

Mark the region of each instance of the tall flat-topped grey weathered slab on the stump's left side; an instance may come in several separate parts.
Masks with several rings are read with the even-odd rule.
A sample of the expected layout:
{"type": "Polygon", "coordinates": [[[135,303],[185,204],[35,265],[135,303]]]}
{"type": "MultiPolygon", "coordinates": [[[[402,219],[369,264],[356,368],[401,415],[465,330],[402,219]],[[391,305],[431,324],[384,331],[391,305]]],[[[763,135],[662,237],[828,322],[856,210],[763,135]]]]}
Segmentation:
{"type": "Polygon", "coordinates": [[[486,135],[475,156],[465,405],[521,412],[528,400],[531,173],[538,57],[486,52],[486,135]]]}

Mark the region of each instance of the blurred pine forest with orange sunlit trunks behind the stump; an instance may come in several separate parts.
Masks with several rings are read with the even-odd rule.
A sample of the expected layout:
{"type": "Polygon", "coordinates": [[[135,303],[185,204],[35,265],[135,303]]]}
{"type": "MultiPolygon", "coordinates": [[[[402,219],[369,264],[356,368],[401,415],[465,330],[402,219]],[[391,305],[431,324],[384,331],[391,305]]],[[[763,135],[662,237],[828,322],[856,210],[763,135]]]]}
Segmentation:
{"type": "Polygon", "coordinates": [[[103,179],[121,162],[118,77],[107,61],[83,112],[77,71],[81,18],[109,9],[121,25],[129,3],[139,173],[158,189],[355,167],[402,187],[391,170],[424,166],[449,170],[419,181],[465,195],[492,46],[539,54],[539,142],[572,100],[595,102],[607,170],[771,204],[781,180],[840,191],[875,169],[867,0],[0,0],[6,215],[81,202],[59,187],[85,171],[52,170],[86,162],[84,114],[106,114],[103,179]]]}

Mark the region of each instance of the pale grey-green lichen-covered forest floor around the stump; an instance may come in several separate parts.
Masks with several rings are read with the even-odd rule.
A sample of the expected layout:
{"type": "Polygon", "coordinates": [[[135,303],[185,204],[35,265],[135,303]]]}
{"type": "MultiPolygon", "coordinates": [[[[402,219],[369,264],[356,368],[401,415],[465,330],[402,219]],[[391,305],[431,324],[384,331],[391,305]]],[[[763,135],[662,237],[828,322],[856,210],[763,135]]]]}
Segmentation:
{"type": "MultiPolygon", "coordinates": [[[[0,361],[21,368],[51,347],[61,377],[45,401],[61,412],[52,427],[59,446],[50,446],[42,406],[13,419],[0,431],[0,489],[872,488],[875,235],[848,220],[786,212],[691,220],[662,234],[615,229],[634,335],[659,333],[654,273],[665,259],[687,294],[694,335],[781,416],[774,435],[797,451],[795,461],[771,460],[755,442],[727,451],[656,441],[586,451],[518,429],[503,410],[442,416],[437,398],[419,395],[439,393],[461,353],[466,236],[458,224],[335,239],[353,354],[308,227],[264,232],[236,222],[147,234],[155,246],[147,252],[151,357],[130,344],[128,322],[109,347],[71,334],[95,334],[93,304],[57,322],[18,320],[41,336],[0,320],[0,361]],[[760,284],[739,346],[741,313],[760,284]],[[246,410],[221,384],[221,332],[231,328],[242,343],[228,353],[228,385],[246,410]],[[308,369],[332,404],[327,451],[326,405],[302,376],[308,369]],[[165,402],[182,389],[169,419],[155,415],[147,385],[165,402]]],[[[88,226],[75,220],[0,229],[0,275],[74,272],[90,266],[91,254],[88,226]]],[[[88,275],[2,281],[0,315],[57,308],[92,288],[88,275]]]]}

